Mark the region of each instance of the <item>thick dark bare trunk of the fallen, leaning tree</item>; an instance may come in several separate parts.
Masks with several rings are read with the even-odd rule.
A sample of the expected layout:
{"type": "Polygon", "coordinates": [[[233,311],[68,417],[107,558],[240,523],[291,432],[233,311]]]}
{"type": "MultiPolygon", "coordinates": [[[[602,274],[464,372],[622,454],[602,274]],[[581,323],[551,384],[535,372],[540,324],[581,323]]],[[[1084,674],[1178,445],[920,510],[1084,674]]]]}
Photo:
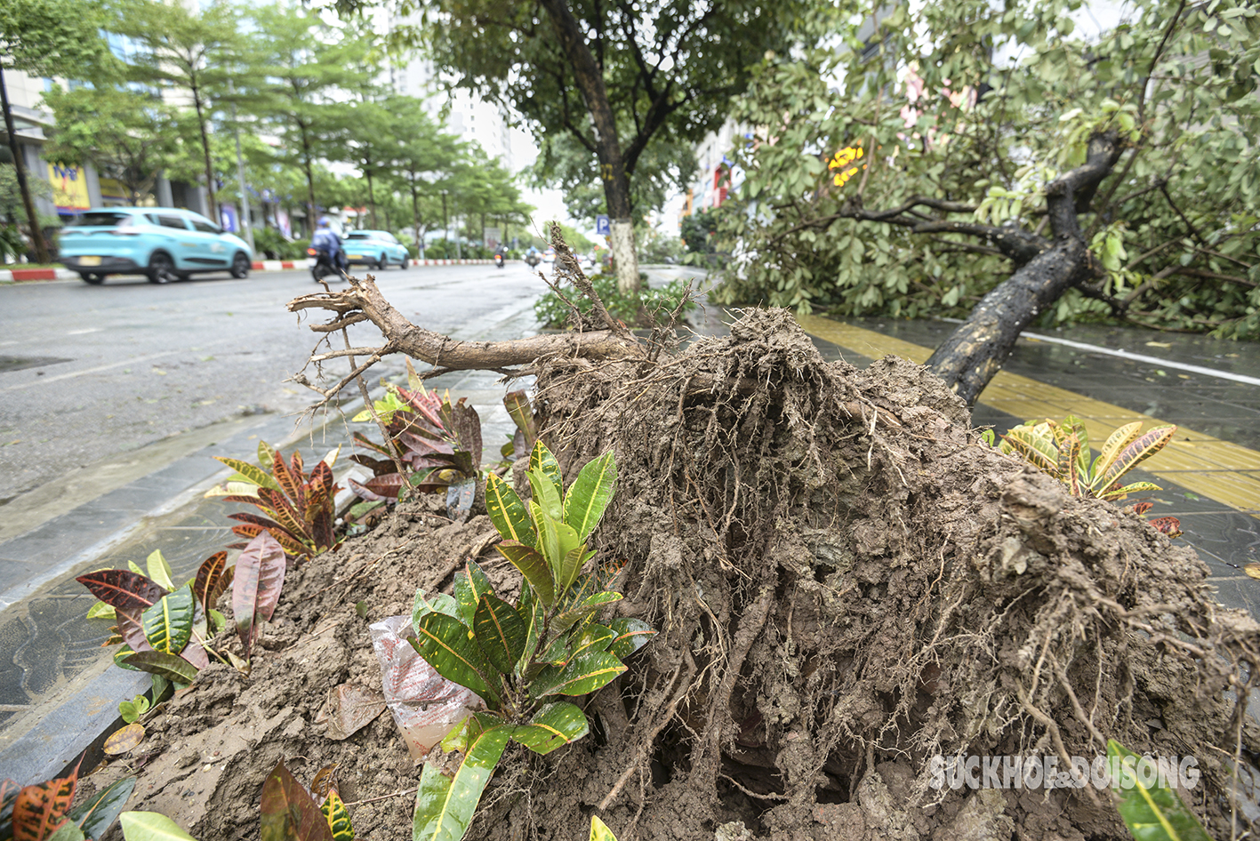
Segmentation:
{"type": "Polygon", "coordinates": [[[1089,206],[1097,185],[1120,157],[1115,132],[1090,138],[1085,164],[1046,185],[1053,244],[984,296],[970,317],[927,360],[968,405],[1002,369],[1019,334],[1076,283],[1095,274],[1077,206],[1089,206]]]}

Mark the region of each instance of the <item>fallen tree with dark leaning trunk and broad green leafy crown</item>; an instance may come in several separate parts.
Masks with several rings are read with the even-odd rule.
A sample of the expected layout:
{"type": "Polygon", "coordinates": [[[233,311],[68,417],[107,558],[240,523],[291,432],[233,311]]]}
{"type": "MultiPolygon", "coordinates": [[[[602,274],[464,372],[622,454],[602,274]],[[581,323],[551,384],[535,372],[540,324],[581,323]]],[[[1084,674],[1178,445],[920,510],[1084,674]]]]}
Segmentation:
{"type": "Polygon", "coordinates": [[[716,298],[968,316],[929,360],[968,402],[1038,320],[1260,335],[1260,14],[1080,11],[900,5],[764,62],[716,298]]]}

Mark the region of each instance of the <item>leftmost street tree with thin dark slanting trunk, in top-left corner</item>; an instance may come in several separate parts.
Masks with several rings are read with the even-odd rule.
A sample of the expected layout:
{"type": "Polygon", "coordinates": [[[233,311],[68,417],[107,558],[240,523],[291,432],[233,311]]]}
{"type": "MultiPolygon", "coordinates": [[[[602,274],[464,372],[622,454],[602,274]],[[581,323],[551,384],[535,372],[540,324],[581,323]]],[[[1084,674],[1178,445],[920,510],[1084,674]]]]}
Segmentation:
{"type": "Polygon", "coordinates": [[[48,262],[48,243],[26,181],[26,164],[18,145],[4,76],[6,71],[19,71],[34,77],[81,78],[88,68],[96,68],[97,78],[103,78],[111,69],[111,57],[97,34],[98,25],[94,4],[74,0],[5,0],[0,4],[0,107],[30,240],[40,263],[48,262]]]}

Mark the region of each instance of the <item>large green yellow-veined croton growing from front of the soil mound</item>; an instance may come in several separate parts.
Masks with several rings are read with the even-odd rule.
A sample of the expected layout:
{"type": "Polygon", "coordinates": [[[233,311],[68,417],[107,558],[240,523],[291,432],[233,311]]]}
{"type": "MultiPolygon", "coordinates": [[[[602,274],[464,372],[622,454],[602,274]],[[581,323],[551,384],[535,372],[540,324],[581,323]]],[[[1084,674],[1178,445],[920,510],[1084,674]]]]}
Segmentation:
{"type": "Polygon", "coordinates": [[[546,754],[586,735],[586,714],[561,699],[606,685],[653,633],[636,619],[596,623],[600,607],[621,598],[609,589],[619,568],[582,572],[595,555],[586,540],[616,491],[612,453],[587,463],[566,492],[556,458],[539,441],[527,475],[528,505],[496,475],[486,480],[486,509],[504,538],[499,551],[524,577],[517,603],[495,595],[471,560],[456,575],[454,598],[416,594],[416,651],[489,708],[442,742],[462,754],[454,777],[437,763],[425,765],[416,840],[464,837],[509,740],[546,754]]]}

